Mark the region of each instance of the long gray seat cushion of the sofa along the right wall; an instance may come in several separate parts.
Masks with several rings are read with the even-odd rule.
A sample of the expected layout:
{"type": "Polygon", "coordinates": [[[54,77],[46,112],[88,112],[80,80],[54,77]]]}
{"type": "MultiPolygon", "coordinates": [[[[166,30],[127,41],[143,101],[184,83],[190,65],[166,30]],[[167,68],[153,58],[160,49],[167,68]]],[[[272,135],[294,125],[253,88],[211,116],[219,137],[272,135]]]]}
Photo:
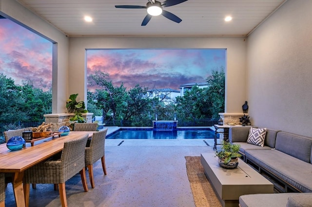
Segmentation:
{"type": "Polygon", "coordinates": [[[246,150],[245,156],[296,189],[312,192],[312,164],[278,150],[246,150]]]}

